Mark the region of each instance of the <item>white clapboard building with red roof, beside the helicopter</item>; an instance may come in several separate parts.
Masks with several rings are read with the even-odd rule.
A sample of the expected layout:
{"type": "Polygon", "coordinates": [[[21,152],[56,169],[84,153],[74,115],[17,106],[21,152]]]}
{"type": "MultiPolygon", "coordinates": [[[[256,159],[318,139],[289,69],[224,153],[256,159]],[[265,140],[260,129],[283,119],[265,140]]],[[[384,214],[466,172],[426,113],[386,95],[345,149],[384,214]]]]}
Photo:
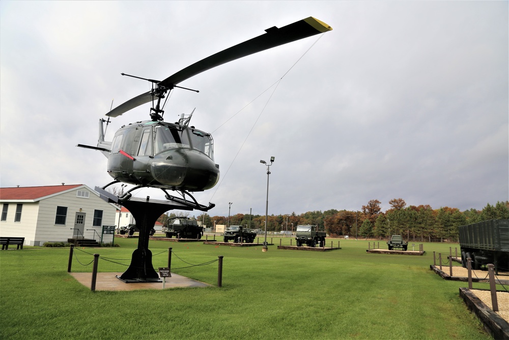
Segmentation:
{"type": "Polygon", "coordinates": [[[25,245],[84,238],[112,242],[103,226],[115,226],[117,206],[86,185],[0,188],[0,236],[24,237],[25,245]]]}

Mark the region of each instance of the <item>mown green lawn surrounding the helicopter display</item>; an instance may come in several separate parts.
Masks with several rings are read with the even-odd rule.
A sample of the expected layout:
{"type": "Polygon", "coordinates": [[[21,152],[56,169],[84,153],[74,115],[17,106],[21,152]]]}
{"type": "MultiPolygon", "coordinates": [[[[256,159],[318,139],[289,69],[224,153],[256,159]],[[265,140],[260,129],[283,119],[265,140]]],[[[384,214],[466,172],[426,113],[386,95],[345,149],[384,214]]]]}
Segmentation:
{"type": "MultiPolygon", "coordinates": [[[[121,247],[81,250],[129,264],[137,240],[115,242],[121,247]]],[[[154,268],[166,267],[168,247],[172,268],[187,266],[176,255],[194,264],[223,255],[223,287],[216,262],[174,271],[213,287],[95,293],[67,273],[68,248],[2,251],[0,338],[489,339],[459,297],[466,283],[429,269],[433,251],[448,254],[449,246],[427,243],[425,255],[409,256],[366,253],[360,240],[329,252],[151,241],[154,268]]],[[[125,269],[99,261],[100,272],[125,269]]],[[[74,259],[72,271],[92,265],[74,259]]]]}

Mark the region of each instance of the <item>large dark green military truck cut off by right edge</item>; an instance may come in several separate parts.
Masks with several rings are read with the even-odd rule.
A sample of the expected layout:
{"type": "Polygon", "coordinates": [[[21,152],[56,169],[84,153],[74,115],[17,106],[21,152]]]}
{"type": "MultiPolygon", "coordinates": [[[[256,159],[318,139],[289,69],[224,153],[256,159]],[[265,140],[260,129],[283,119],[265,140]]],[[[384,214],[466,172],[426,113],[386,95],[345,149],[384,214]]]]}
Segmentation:
{"type": "Polygon", "coordinates": [[[509,271],[509,220],[483,221],[463,225],[458,230],[464,268],[470,257],[473,269],[493,264],[497,272],[509,271]]]}

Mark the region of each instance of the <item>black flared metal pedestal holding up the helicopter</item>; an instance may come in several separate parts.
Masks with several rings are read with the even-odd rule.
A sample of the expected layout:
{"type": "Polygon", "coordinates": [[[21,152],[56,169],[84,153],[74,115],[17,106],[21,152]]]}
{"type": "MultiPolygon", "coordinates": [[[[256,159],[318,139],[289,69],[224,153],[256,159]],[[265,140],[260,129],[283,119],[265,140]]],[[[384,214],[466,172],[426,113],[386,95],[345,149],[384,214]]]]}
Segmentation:
{"type": "Polygon", "coordinates": [[[122,199],[99,187],[95,187],[95,191],[106,202],[125,206],[134,217],[136,227],[139,229],[138,248],[132,253],[131,264],[121,276],[117,277],[126,283],[159,282],[159,274],[152,266],[152,252],[149,249],[150,231],[157,219],[168,210],[192,211],[193,207],[176,200],[156,200],[150,199],[149,196],[145,199],[139,197],[122,199]]]}

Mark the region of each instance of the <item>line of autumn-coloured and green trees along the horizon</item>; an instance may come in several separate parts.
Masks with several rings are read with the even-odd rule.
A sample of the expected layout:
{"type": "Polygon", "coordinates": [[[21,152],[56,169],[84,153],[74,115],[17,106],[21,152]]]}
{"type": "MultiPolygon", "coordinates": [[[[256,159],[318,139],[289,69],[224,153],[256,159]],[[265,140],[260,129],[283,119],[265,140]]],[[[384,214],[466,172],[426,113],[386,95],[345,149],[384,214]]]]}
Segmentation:
{"type": "MultiPolygon", "coordinates": [[[[370,200],[360,211],[327,210],[312,211],[300,215],[270,215],[267,217],[267,231],[294,231],[299,224],[318,225],[331,237],[349,236],[361,238],[384,239],[392,234],[401,234],[407,240],[458,241],[458,227],[480,221],[509,219],[509,201],[488,203],[483,210],[475,209],[461,212],[458,208],[440,207],[433,209],[430,205],[407,206],[402,198],[389,201],[390,208],[382,212],[381,202],[370,200]]],[[[174,213],[163,214],[159,222],[167,223],[174,213]]],[[[207,227],[215,225],[243,225],[254,229],[265,229],[265,215],[235,214],[231,216],[210,216],[207,213],[196,217],[189,213],[190,219],[203,222],[207,227]]]]}

